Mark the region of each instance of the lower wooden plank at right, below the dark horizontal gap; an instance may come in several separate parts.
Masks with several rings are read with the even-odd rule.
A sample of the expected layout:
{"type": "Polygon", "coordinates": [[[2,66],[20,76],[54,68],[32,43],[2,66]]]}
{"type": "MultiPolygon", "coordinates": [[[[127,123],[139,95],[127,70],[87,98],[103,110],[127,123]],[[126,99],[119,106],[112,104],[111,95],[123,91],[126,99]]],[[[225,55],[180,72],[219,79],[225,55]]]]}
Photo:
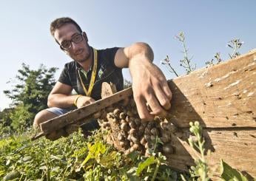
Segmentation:
{"type": "MultiPolygon", "coordinates": [[[[187,142],[189,129],[183,129],[183,136],[172,137],[175,153],[167,156],[168,164],[173,168],[188,171],[194,165],[193,157],[199,153],[192,150],[187,142]]],[[[206,149],[212,151],[206,156],[211,173],[220,175],[220,159],[239,171],[256,177],[256,129],[204,129],[206,149]]]]}

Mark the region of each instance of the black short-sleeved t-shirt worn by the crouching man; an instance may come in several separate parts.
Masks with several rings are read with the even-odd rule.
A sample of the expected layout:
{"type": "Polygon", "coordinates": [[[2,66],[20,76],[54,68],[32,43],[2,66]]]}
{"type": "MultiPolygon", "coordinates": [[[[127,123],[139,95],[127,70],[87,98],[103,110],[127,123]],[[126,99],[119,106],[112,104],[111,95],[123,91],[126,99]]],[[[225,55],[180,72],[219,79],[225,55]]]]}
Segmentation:
{"type": "MultiPolygon", "coordinates": [[[[92,88],[91,97],[95,100],[101,99],[101,84],[103,82],[112,82],[115,84],[118,91],[124,89],[124,78],[122,69],[115,66],[114,59],[115,53],[119,48],[114,47],[110,49],[98,49],[98,66],[95,77],[94,86],[92,88]]],[[[93,67],[93,65],[92,65],[93,67]]],[[[83,86],[81,85],[78,71],[81,71],[81,66],[75,61],[65,64],[58,81],[72,86],[79,95],[85,95],[83,86]]],[[[87,78],[81,72],[81,79],[84,86],[88,89],[92,69],[87,73],[87,78]]]]}

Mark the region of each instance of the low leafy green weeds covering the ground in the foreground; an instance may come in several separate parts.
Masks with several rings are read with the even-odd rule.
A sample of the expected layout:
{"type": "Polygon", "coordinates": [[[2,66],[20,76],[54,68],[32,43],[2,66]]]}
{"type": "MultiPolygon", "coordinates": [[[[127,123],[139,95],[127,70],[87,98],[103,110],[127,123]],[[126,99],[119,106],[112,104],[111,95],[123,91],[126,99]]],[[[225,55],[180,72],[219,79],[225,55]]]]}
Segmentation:
{"type": "Polygon", "coordinates": [[[0,141],[0,180],[142,180],[178,179],[164,164],[161,154],[141,157],[115,151],[95,132],[84,138],[81,132],[54,142],[30,141],[31,132],[0,141]]]}

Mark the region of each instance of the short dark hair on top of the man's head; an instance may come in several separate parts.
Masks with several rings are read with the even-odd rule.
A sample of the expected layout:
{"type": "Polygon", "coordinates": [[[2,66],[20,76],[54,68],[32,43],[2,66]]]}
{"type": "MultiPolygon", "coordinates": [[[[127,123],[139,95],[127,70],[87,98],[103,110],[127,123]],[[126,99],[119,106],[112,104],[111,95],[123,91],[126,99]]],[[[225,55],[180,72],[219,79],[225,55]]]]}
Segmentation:
{"type": "Polygon", "coordinates": [[[68,17],[56,18],[50,24],[50,33],[54,36],[55,30],[62,27],[64,24],[74,24],[75,27],[78,29],[78,31],[82,33],[81,27],[79,27],[79,25],[72,18],[68,18],[68,17]]]}

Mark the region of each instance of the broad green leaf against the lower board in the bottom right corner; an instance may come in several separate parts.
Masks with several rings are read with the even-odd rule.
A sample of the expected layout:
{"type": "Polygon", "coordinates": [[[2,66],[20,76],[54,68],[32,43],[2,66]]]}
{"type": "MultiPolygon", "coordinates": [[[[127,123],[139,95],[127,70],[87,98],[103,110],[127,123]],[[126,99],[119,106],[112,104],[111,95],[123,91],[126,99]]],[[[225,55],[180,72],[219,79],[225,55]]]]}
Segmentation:
{"type": "Polygon", "coordinates": [[[223,180],[248,181],[247,178],[244,177],[242,173],[240,173],[240,171],[235,170],[227,163],[225,163],[223,160],[221,160],[220,162],[220,171],[220,177],[223,180]]]}

